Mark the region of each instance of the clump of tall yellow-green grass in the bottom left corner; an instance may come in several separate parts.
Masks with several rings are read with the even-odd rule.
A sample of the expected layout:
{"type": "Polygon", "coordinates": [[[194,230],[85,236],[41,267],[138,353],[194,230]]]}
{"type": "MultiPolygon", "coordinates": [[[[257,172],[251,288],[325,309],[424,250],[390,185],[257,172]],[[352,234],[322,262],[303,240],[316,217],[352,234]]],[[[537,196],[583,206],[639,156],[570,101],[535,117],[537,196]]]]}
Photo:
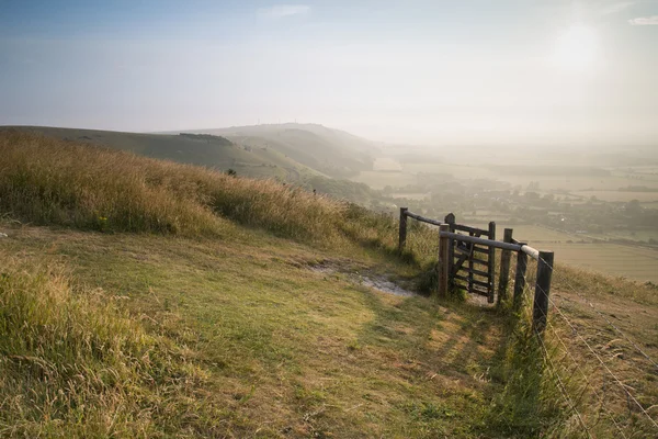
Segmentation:
{"type": "Polygon", "coordinates": [[[3,259],[0,437],[212,435],[218,410],[194,397],[205,373],[185,349],[58,269],[3,259]]]}

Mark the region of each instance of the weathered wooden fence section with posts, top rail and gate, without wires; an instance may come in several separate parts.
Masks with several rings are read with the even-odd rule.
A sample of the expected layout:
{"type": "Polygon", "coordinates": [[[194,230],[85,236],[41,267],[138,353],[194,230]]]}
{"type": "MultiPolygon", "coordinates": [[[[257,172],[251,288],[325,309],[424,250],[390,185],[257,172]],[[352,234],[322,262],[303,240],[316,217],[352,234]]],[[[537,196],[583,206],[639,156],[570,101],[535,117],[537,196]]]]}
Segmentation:
{"type": "Polygon", "coordinates": [[[551,279],[553,274],[553,251],[540,251],[525,243],[513,238],[513,229],[506,228],[503,240],[496,240],[496,223],[490,222],[488,229],[457,224],[455,215],[450,213],[444,221],[431,219],[400,207],[399,244],[398,250],[402,252],[407,243],[407,218],[421,223],[439,226],[439,262],[436,273],[439,278],[438,293],[447,295],[450,288],[460,288],[486,295],[489,303],[496,300],[496,249],[500,249],[500,272],[498,284],[498,302],[508,299],[510,264],[512,252],[517,255],[517,270],[514,278],[513,306],[522,303],[525,289],[525,271],[527,257],[537,261],[537,272],[533,300],[533,327],[542,334],[546,327],[548,314],[548,295],[551,293],[551,279]],[[462,233],[460,233],[462,232],[462,233]],[[467,233],[468,235],[464,235],[467,233]],[[485,236],[485,237],[483,237],[485,236]],[[478,268],[476,268],[476,264],[478,268]],[[485,270],[479,269],[485,267],[485,270]]]}

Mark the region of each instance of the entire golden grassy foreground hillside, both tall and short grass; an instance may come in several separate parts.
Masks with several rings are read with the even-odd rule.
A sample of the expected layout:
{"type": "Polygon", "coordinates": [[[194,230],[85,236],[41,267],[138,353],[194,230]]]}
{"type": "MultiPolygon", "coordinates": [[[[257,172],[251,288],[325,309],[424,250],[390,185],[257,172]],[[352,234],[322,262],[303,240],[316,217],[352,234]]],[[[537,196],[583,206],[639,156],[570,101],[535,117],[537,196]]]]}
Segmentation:
{"type": "MultiPolygon", "coordinates": [[[[0,154],[0,437],[586,437],[522,317],[417,294],[430,228],[399,256],[390,216],[274,181],[26,133],[0,154]]],[[[651,365],[577,295],[656,358],[655,288],[564,267],[554,288],[655,410],[651,365]]],[[[592,434],[616,437],[605,408],[651,437],[586,367],[612,402],[578,402],[592,434]]]]}

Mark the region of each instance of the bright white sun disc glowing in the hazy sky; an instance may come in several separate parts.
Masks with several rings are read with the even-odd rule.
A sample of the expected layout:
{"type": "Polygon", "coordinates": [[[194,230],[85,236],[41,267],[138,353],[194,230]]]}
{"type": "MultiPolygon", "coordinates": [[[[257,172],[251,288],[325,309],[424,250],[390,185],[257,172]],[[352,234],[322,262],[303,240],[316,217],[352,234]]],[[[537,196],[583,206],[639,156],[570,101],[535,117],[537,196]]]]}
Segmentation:
{"type": "Polygon", "coordinates": [[[587,71],[593,67],[598,52],[597,32],[590,26],[576,24],[557,40],[553,63],[563,70],[587,71]]]}

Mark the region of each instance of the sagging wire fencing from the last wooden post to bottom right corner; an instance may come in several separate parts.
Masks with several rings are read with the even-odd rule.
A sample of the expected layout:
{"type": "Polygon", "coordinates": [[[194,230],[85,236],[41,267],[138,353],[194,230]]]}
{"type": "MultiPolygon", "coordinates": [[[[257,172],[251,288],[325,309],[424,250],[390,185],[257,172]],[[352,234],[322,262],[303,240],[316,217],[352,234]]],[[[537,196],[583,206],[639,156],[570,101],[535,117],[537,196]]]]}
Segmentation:
{"type": "MultiPolygon", "coordinates": [[[[551,269],[553,272],[556,271],[555,267],[551,267],[551,269]]],[[[533,271],[530,270],[530,273],[533,271]]],[[[530,275],[526,275],[525,284],[532,285],[533,282],[527,278],[530,275]]],[[[595,320],[590,322],[587,327],[592,329],[600,326],[612,328],[615,335],[621,336],[620,340],[624,340],[628,348],[639,353],[648,362],[651,368],[649,372],[654,372],[655,375],[658,369],[656,361],[642,349],[638,342],[633,340],[619,325],[612,323],[582,292],[566,281],[567,277],[563,277],[563,279],[567,290],[580,297],[582,303],[594,313],[595,320]]],[[[541,290],[538,285],[535,285],[535,288],[541,290]]],[[[546,294],[543,290],[541,292],[546,294]]],[[[593,346],[592,340],[594,337],[591,334],[586,334],[583,325],[579,325],[572,318],[569,318],[567,316],[568,312],[563,309],[551,296],[548,296],[548,302],[552,318],[544,315],[547,330],[544,336],[538,333],[536,336],[540,340],[549,376],[559,390],[568,410],[578,419],[581,434],[591,438],[592,429],[606,431],[605,424],[601,421],[603,418],[610,421],[610,427],[614,428],[619,437],[658,437],[658,424],[649,413],[658,407],[656,405],[658,401],[654,401],[654,405],[646,403],[643,405],[639,401],[643,399],[643,396],[639,395],[635,386],[628,384],[629,381],[638,381],[638,376],[621,376],[620,371],[615,370],[615,364],[611,363],[610,358],[606,361],[604,359],[605,354],[599,352],[597,346],[593,346]],[[564,329],[567,329],[570,334],[566,335],[564,329]],[[555,352],[552,352],[548,346],[552,342],[556,344],[555,352]],[[601,373],[600,382],[594,382],[597,373],[601,373]],[[623,408],[624,405],[625,408],[623,408]],[[647,406],[645,407],[645,405],[647,406]]],[[[595,336],[600,338],[600,331],[595,336]]],[[[609,344],[610,341],[616,340],[609,340],[609,344]]],[[[617,357],[612,356],[611,358],[616,359],[617,357]]],[[[642,368],[636,367],[636,369],[639,372],[647,372],[642,368]]],[[[649,382],[653,382],[651,379],[649,379],[649,382]]],[[[647,398],[645,397],[645,399],[647,398]]]]}

